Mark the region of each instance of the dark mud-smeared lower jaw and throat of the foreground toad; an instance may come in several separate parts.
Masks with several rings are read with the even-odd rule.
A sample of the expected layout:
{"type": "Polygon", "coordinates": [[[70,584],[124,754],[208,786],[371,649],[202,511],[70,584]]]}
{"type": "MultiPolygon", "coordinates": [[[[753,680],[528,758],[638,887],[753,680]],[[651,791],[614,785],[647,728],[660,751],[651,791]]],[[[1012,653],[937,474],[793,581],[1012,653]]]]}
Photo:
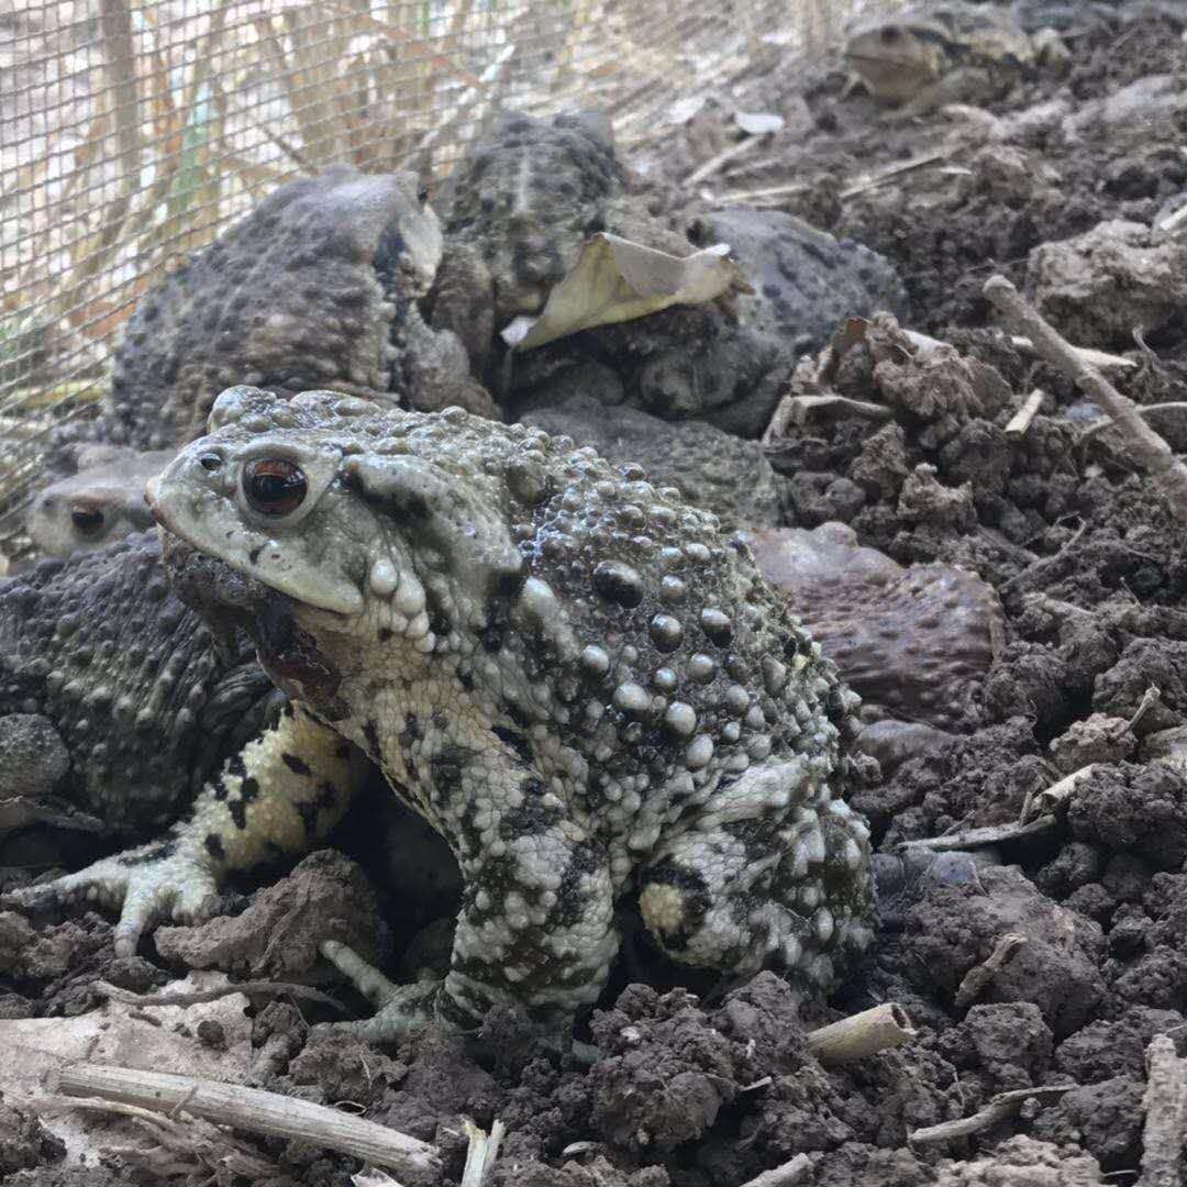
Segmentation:
{"type": "Polygon", "coordinates": [[[242,630],[283,692],[319,706],[334,702],[342,674],[297,622],[297,603],[287,594],[245,577],[164,526],[159,532],[173,592],[208,623],[216,642],[242,630]]]}

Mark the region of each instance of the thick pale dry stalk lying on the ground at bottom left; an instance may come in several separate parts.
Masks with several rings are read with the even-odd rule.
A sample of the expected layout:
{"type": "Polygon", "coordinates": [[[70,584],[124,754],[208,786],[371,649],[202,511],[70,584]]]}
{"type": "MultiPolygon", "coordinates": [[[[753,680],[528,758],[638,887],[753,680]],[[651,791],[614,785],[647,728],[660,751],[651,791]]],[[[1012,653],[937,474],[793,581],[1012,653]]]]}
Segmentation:
{"type": "Polygon", "coordinates": [[[277,1092],[100,1064],[66,1065],[57,1081],[57,1090],[70,1096],[102,1097],[164,1112],[184,1100],[188,1112],[216,1124],[272,1137],[296,1137],[394,1170],[440,1174],[442,1169],[437,1148],[427,1142],[277,1092]]]}

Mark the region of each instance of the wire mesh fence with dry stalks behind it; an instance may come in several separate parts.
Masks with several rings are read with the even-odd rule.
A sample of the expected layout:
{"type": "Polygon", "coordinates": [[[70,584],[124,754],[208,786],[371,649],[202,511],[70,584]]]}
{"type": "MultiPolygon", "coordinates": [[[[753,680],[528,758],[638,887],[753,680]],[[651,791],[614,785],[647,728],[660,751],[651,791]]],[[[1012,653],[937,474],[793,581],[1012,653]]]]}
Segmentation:
{"type": "Polygon", "coordinates": [[[504,108],[604,110],[629,152],[677,96],[819,51],[859,5],[0,0],[0,515],[102,396],[137,298],[283,182],[438,182],[504,108]]]}

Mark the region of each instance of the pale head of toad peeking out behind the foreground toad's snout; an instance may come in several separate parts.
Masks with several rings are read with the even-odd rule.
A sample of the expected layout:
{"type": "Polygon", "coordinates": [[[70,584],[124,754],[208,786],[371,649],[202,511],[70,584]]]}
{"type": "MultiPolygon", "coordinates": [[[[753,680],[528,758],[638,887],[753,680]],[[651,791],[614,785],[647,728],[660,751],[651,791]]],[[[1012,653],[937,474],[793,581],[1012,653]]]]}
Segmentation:
{"type": "Polygon", "coordinates": [[[25,514],[25,528],[38,554],[94,552],[121,537],[147,531],[152,515],[145,502],[145,483],[172,457],[173,450],[119,450],[104,464],[38,491],[25,514]]]}

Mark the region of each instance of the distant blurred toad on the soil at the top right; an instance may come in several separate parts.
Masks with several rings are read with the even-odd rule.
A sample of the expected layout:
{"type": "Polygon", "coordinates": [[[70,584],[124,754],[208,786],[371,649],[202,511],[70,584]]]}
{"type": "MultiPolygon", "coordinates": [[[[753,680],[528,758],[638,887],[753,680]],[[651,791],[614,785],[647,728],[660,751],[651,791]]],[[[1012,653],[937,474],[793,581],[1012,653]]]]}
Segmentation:
{"type": "Polygon", "coordinates": [[[952,0],[862,21],[845,59],[877,102],[922,115],[999,99],[1034,64],[1036,46],[1007,8],[952,0]]]}

